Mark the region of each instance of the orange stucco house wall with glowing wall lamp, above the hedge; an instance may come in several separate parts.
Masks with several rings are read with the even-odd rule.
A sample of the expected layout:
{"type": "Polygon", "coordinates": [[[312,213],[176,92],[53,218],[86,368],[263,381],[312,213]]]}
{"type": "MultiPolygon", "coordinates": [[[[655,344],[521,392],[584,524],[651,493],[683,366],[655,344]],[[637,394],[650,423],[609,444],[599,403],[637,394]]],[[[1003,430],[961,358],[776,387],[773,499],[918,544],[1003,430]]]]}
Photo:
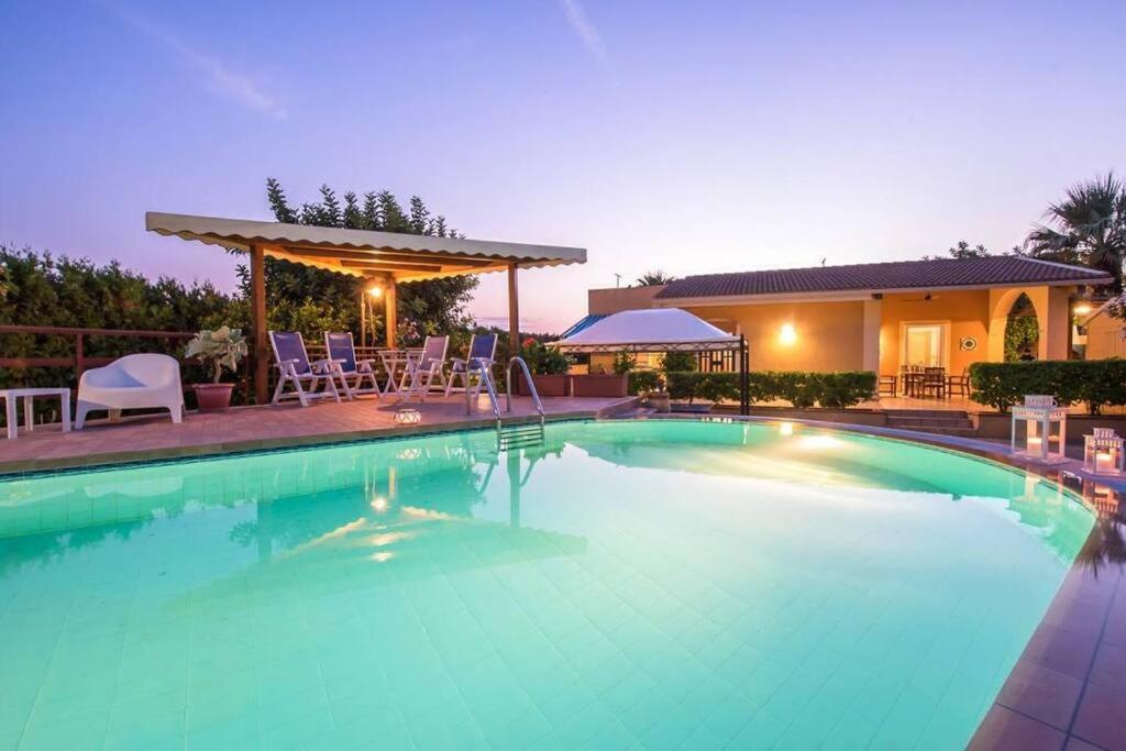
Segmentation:
{"type": "Polygon", "coordinates": [[[864,367],[864,303],[770,303],[687,307],[747,337],[754,370],[859,370],[864,367]],[[781,341],[794,327],[793,343],[781,341]]]}

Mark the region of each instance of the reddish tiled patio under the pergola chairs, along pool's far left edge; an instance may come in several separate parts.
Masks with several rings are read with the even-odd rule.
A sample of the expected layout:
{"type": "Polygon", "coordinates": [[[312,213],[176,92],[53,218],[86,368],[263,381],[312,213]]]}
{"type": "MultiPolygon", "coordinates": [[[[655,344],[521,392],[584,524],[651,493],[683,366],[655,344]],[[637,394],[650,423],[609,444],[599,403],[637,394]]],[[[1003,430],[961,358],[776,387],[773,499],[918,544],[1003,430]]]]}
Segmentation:
{"type": "MultiPolygon", "coordinates": [[[[629,409],[626,399],[544,399],[548,419],[599,418],[629,409]]],[[[503,406],[503,397],[501,401],[503,406]]],[[[504,421],[536,418],[531,400],[515,397],[504,421]]],[[[395,397],[359,397],[354,402],[318,402],[302,408],[296,402],[269,406],[235,408],[226,412],[189,412],[175,424],[167,415],[98,420],[86,429],[63,433],[60,426],[20,429],[15,440],[0,439],[0,474],[60,467],[89,466],[151,458],[225,454],[283,446],[358,440],[419,432],[488,428],[495,423],[488,399],[473,414],[465,414],[465,397],[428,397],[426,403],[400,402],[395,397]],[[395,412],[411,406],[422,414],[415,426],[395,423],[395,412]]]]}

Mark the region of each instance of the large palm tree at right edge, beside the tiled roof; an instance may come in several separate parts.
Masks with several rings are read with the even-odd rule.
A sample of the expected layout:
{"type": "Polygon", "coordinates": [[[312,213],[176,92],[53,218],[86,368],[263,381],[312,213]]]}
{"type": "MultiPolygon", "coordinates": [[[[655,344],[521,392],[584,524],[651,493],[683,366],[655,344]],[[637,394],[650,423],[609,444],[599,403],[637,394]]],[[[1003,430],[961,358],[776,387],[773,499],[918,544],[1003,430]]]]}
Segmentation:
{"type": "Polygon", "coordinates": [[[1123,288],[1126,262],[1126,188],[1107,172],[1067,188],[1067,197],[1052,204],[1046,224],[1033,226],[1025,252],[1062,263],[1080,263],[1106,271],[1123,288]]]}

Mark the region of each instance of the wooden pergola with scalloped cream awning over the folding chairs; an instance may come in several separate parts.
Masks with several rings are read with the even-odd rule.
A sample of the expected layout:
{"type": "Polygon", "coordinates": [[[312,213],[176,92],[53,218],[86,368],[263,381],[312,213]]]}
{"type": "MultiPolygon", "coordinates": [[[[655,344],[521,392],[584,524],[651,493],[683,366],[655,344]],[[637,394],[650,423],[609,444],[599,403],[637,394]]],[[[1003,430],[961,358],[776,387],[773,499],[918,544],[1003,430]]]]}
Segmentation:
{"type": "Polygon", "coordinates": [[[491,240],[343,230],[282,222],[145,213],[145,229],[181,240],[245,251],[250,256],[254,396],[267,401],[269,345],[266,337],[266,257],[366,279],[383,290],[387,347],[395,347],[396,285],[467,274],[508,271],[508,330],[520,339],[517,270],[586,263],[584,248],[531,245],[491,240]]]}

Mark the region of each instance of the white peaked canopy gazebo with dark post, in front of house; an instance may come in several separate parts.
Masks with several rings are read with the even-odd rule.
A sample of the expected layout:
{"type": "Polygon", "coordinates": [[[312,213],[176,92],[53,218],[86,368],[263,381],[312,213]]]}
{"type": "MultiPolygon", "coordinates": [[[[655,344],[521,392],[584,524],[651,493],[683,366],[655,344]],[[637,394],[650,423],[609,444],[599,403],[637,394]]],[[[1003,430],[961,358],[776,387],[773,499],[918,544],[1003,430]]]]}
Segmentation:
{"type": "Polygon", "coordinates": [[[679,307],[614,313],[577,333],[552,342],[572,355],[614,352],[739,352],[741,414],[750,412],[747,338],[733,336],[679,307]]]}

